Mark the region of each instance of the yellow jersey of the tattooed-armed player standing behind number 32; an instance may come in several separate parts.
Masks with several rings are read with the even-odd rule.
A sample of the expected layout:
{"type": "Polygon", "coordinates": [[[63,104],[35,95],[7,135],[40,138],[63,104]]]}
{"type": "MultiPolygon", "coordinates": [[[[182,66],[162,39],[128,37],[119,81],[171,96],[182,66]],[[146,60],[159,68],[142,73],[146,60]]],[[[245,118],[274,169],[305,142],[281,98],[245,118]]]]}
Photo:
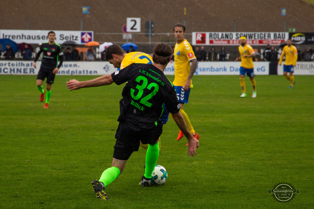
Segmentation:
{"type": "Polygon", "coordinates": [[[191,44],[184,39],[176,43],[174,50],[175,79],[172,82],[175,86],[184,86],[190,73],[190,61],[196,59],[191,44]]]}

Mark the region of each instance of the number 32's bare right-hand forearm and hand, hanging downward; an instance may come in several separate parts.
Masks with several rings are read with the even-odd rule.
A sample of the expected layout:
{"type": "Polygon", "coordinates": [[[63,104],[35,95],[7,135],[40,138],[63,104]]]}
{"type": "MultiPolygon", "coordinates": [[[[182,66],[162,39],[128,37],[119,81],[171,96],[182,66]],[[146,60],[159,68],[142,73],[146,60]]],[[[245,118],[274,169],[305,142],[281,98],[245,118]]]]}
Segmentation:
{"type": "Polygon", "coordinates": [[[185,124],[185,121],[183,119],[183,116],[180,112],[173,113],[172,114],[173,120],[176,122],[177,126],[180,128],[184,136],[187,137],[187,143],[188,143],[188,151],[187,154],[191,157],[196,155],[196,148],[199,147],[199,142],[196,138],[192,136],[190,131],[187,129],[187,125],[185,124]]]}

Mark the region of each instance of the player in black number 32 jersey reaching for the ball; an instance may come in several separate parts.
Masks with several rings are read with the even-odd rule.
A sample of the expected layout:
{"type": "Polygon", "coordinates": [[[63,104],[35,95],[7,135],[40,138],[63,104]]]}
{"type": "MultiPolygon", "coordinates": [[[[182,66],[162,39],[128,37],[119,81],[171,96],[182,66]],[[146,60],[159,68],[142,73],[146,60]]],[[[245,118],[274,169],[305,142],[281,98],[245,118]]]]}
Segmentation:
{"type": "Polygon", "coordinates": [[[138,151],[139,142],[149,144],[146,153],[145,174],[140,185],[149,186],[159,156],[158,138],[162,133],[160,115],[163,103],[171,112],[174,121],[188,140],[188,155],[194,156],[199,142],[194,138],[179,112],[176,91],[171,82],[164,75],[164,69],[171,60],[172,49],[167,44],[157,44],[153,52],[153,64],[133,63],[111,75],[104,75],[89,81],[79,82],[75,79],[67,82],[70,90],[79,88],[126,83],[120,100],[119,126],[116,131],[112,167],[106,169],[99,181],[92,182],[97,198],[108,197],[105,186],[115,180],[122,173],[127,159],[134,151],[138,151]]]}

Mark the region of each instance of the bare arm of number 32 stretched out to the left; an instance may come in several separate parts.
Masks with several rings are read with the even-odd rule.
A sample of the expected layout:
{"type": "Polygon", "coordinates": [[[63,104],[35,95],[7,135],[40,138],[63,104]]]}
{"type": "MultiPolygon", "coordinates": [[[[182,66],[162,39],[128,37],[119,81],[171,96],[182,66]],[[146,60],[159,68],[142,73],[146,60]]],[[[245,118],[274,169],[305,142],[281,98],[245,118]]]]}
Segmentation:
{"type": "Polygon", "coordinates": [[[95,78],[89,81],[79,82],[78,80],[73,79],[67,82],[67,87],[72,91],[72,90],[77,90],[80,88],[106,86],[106,85],[110,85],[111,83],[113,83],[113,80],[111,78],[111,74],[109,74],[109,75],[100,76],[98,78],[95,78]]]}

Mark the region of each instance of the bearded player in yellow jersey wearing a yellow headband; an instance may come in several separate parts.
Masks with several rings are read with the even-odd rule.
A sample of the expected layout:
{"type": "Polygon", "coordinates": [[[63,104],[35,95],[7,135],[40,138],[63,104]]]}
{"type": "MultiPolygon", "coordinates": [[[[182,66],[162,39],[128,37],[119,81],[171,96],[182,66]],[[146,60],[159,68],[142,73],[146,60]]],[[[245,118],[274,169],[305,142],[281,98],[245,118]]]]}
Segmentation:
{"type": "Polygon", "coordinates": [[[246,37],[242,36],[240,37],[240,46],[239,46],[239,52],[240,57],[237,57],[236,60],[241,60],[240,65],[240,86],[242,89],[242,94],[240,97],[246,97],[246,89],[245,89],[245,81],[244,77],[245,74],[250,77],[252,87],[253,87],[253,94],[252,98],[256,97],[256,81],[254,79],[254,64],[253,64],[253,57],[255,56],[255,52],[252,48],[252,46],[248,45],[246,43],[246,37]]]}

